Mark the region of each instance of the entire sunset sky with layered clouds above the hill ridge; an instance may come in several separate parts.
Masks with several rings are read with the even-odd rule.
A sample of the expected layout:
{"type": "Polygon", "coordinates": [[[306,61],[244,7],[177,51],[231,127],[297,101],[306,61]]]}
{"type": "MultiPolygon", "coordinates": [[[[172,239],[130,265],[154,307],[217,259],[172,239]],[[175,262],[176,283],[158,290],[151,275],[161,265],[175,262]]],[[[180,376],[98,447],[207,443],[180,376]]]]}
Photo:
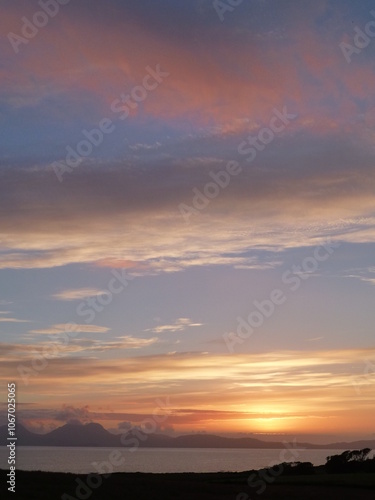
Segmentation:
{"type": "Polygon", "coordinates": [[[2,423],[374,438],[374,9],[2,2],[2,423]]]}

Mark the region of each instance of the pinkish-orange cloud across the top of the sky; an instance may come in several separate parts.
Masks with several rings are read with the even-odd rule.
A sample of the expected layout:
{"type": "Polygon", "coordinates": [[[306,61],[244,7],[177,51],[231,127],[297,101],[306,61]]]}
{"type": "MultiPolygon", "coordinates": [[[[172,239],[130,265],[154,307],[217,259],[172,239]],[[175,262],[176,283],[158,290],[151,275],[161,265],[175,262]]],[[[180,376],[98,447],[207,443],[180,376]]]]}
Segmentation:
{"type": "MultiPolygon", "coordinates": [[[[143,103],[150,115],[206,125],[238,118],[265,122],[273,107],[289,102],[305,122],[319,123],[316,131],[321,132],[339,126],[341,110],[358,111],[355,99],[373,95],[372,68],[351,71],[337,44],[322,39],[309,24],[296,23],[289,43],[282,40],[277,52],[251,38],[247,43],[216,38],[214,45],[192,51],[131,19],[103,26],[94,18],[73,15],[72,9],[61,10],[22,53],[9,58],[12,73],[1,75],[7,92],[17,89],[28,99],[69,92],[70,112],[80,108],[86,94],[97,115],[107,116],[113,99],[142,82],[146,66],[160,64],[170,76],[143,103]],[[335,103],[336,116],[330,116],[327,96],[335,103]]],[[[5,11],[6,29],[19,24],[15,12],[19,10],[5,11]]]]}

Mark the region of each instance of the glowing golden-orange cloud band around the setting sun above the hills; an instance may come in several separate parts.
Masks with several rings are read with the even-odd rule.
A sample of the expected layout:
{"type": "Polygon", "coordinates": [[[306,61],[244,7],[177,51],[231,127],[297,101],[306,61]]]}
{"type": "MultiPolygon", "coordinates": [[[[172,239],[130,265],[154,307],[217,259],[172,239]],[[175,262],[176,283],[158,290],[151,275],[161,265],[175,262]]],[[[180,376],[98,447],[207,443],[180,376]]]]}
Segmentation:
{"type": "MultiPolygon", "coordinates": [[[[2,379],[19,363],[27,364],[27,357],[20,357],[22,349],[28,352],[27,346],[10,346],[1,364],[2,379]]],[[[374,358],[374,349],[268,352],[256,357],[185,353],[132,357],[126,362],[116,355],[65,357],[50,359],[45,370],[30,377],[27,388],[20,381],[18,394],[22,403],[36,402],[33,394],[38,394],[40,407],[62,404],[66,385],[74,379],[69,404],[112,408],[119,421],[130,407],[147,414],[156,398],[168,396],[170,423],[178,429],[371,432],[373,381],[365,368],[366,360],[374,358]],[[82,394],[90,396],[82,400],[82,394]]]]}

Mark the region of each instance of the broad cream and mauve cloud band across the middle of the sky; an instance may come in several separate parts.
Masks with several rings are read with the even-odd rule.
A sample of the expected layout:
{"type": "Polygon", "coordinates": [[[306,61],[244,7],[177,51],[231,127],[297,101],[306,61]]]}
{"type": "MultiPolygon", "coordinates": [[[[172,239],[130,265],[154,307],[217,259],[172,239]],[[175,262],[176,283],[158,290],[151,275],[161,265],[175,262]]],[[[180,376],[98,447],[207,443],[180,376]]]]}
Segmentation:
{"type": "MultiPolygon", "coordinates": [[[[357,155],[358,152],[348,153],[353,164],[357,155]]],[[[278,178],[272,170],[272,175],[266,176],[267,182],[263,177],[253,178],[244,172],[241,182],[223,190],[206,211],[192,215],[188,231],[178,205],[191,204],[191,190],[195,186],[202,188],[207,182],[208,174],[198,167],[191,176],[182,176],[181,171],[176,170],[179,182],[173,189],[163,171],[160,179],[150,176],[145,180],[136,170],[129,174],[94,169],[90,171],[90,185],[96,201],[90,213],[83,208],[81,200],[81,185],[88,172],[82,176],[79,172],[75,174],[69,187],[69,205],[66,197],[55,192],[56,179],[46,175],[44,188],[55,192],[56,213],[70,214],[69,225],[63,223],[59,215],[41,213],[39,205],[27,201],[27,192],[19,188],[17,196],[25,200],[20,203],[28,203],[28,213],[25,215],[16,208],[11,223],[0,219],[3,235],[0,268],[88,264],[129,267],[139,274],[179,272],[212,265],[265,269],[280,264],[280,250],[316,246],[317,239],[325,235],[347,242],[375,242],[375,218],[369,215],[371,211],[375,213],[373,193],[369,191],[374,173],[367,168],[361,172],[358,168],[355,187],[349,189],[353,185],[350,176],[343,180],[343,172],[334,169],[317,176],[312,174],[313,166],[308,161],[307,164],[299,176],[291,169],[278,178]],[[123,186],[122,196],[117,194],[117,185],[123,186]],[[333,186],[336,186],[334,195],[333,186]],[[144,200],[143,204],[140,200],[144,200]],[[348,210],[355,215],[343,225],[340,221],[348,210]],[[296,213],[304,213],[305,217],[296,218],[296,213]],[[119,225],[126,225],[126,240],[117,232],[119,225]],[[48,232],[44,227],[49,228],[48,232]],[[251,232],[244,233],[244,229],[251,232]],[[102,237],[98,238],[98,234],[102,237]],[[259,261],[249,256],[249,249],[268,249],[274,253],[267,261],[259,261]]],[[[29,189],[35,189],[43,199],[41,187],[36,185],[33,176],[23,175],[28,177],[29,189]]],[[[15,172],[7,172],[6,176],[10,186],[16,185],[15,172]]],[[[6,201],[9,197],[3,194],[4,197],[0,192],[0,205],[4,212],[9,212],[6,201]]],[[[88,200],[88,203],[91,202],[88,200]]],[[[68,289],[58,291],[54,298],[78,300],[98,292],[100,290],[94,287],[68,289]]]]}

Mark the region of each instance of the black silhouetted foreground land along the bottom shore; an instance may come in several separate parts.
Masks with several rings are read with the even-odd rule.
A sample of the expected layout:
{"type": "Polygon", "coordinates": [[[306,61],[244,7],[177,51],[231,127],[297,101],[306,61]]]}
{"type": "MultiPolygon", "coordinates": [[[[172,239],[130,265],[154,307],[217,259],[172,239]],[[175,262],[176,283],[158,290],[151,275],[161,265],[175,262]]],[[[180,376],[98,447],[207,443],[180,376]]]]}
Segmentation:
{"type": "Polygon", "coordinates": [[[254,482],[250,488],[247,482],[251,472],[114,473],[90,478],[17,471],[15,494],[7,494],[6,473],[0,471],[0,498],[17,500],[375,500],[373,473],[280,476],[263,485],[256,483],[256,487],[254,482]],[[264,491],[257,493],[260,489],[264,491]]]}

